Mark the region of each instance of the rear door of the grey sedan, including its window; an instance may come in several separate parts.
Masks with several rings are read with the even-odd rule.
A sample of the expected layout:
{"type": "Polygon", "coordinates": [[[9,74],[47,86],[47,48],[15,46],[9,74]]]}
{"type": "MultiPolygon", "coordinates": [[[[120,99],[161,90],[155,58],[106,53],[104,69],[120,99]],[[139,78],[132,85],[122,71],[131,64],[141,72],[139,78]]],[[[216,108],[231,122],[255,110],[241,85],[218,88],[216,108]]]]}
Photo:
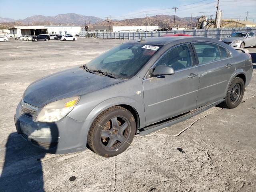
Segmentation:
{"type": "Polygon", "coordinates": [[[193,45],[198,56],[198,108],[225,98],[236,63],[230,52],[222,46],[210,42],[196,42],[193,45]]]}

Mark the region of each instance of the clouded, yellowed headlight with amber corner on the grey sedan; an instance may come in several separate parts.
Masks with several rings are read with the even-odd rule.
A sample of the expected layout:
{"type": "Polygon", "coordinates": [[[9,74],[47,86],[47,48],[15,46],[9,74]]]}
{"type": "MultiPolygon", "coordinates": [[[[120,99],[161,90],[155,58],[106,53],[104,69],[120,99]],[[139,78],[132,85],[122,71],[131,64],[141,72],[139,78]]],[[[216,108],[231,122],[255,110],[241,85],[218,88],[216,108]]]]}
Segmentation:
{"type": "Polygon", "coordinates": [[[38,113],[36,121],[56,122],[60,120],[76,106],[78,98],[79,97],[71,97],[47,104],[38,113]]]}

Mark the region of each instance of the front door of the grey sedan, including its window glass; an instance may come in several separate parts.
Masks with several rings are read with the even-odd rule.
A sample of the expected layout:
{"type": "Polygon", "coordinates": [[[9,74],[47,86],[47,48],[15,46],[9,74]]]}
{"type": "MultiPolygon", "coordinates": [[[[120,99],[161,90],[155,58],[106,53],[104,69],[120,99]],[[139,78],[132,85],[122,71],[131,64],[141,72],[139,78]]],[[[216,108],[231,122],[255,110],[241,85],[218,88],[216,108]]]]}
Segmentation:
{"type": "Polygon", "coordinates": [[[154,68],[159,65],[171,66],[175,74],[143,80],[146,126],[196,108],[199,78],[191,45],[166,51],[154,68]]]}

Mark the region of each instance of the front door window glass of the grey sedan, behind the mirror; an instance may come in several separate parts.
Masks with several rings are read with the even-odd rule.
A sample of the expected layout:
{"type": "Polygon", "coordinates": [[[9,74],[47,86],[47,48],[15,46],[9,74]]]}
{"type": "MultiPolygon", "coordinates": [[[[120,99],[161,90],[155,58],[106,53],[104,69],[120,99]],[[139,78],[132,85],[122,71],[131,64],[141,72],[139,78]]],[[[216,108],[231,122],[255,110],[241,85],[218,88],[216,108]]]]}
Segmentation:
{"type": "Polygon", "coordinates": [[[156,66],[159,65],[170,66],[174,71],[191,67],[192,59],[188,44],[181,45],[167,51],[156,63],[156,66]]]}

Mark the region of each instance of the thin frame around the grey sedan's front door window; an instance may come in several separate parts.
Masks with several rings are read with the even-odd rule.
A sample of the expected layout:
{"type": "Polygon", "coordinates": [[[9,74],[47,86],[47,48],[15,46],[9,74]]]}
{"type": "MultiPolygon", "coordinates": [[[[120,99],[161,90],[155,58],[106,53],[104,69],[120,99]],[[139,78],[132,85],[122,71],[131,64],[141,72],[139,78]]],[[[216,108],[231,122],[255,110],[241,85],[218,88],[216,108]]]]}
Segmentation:
{"type": "MultiPolygon", "coordinates": [[[[172,46],[172,47],[168,48],[168,49],[156,60],[156,62],[154,62],[154,64],[153,64],[153,65],[150,67],[150,69],[146,72],[146,75],[144,76],[143,79],[145,80],[145,79],[150,78],[150,77],[147,77],[147,76],[148,76],[148,73],[154,68],[154,66],[157,64],[157,62],[158,62],[166,53],[168,53],[170,50],[172,50],[172,49],[174,49],[174,48],[176,48],[176,47],[178,47],[178,46],[182,46],[182,45],[188,45],[188,47],[189,47],[190,56],[191,56],[191,60],[192,60],[192,66],[191,66],[191,67],[188,67],[188,68],[183,68],[183,69],[180,69],[180,70],[176,70],[176,72],[179,72],[179,71],[182,71],[182,70],[186,70],[186,69],[190,69],[190,68],[192,68],[192,67],[197,66],[197,65],[196,65],[196,57],[195,57],[195,54],[194,54],[194,50],[193,50],[193,53],[192,53],[192,50],[191,50],[191,48],[192,48],[191,43],[190,43],[190,42],[181,43],[181,44],[177,44],[177,45],[175,45],[175,46],[172,46]]],[[[176,72],[175,72],[175,73],[176,73],[176,72]]]]}

